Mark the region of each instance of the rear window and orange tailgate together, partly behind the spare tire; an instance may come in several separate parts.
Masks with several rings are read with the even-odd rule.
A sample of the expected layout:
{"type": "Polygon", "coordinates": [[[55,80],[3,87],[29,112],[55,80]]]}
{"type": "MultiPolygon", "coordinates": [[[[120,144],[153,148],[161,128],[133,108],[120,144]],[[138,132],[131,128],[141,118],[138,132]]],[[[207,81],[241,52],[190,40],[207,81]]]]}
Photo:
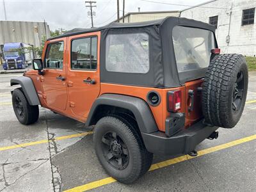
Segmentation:
{"type": "Polygon", "coordinates": [[[173,47],[179,78],[185,84],[186,127],[203,118],[202,82],[214,49],[212,31],[175,26],[173,47]]]}

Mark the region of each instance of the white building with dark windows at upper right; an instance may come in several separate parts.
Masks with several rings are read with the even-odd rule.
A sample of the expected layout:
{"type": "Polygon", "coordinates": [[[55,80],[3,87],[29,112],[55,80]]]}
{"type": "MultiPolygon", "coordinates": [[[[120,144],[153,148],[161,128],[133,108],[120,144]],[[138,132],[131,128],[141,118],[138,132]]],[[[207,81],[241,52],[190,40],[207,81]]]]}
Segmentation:
{"type": "Polygon", "coordinates": [[[214,0],[182,10],[180,17],[216,25],[221,53],[256,55],[255,0],[214,0]]]}

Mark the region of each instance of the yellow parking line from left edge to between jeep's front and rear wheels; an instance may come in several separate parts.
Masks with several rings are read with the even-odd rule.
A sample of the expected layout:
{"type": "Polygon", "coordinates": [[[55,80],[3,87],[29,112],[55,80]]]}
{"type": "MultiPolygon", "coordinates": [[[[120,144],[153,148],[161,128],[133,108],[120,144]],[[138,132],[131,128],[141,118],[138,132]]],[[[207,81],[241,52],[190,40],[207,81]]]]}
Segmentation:
{"type": "MultiPolygon", "coordinates": [[[[78,134],[70,134],[70,135],[67,135],[67,136],[61,136],[61,137],[58,137],[58,138],[54,138],[54,140],[65,140],[65,139],[68,139],[68,138],[78,138],[78,137],[86,136],[86,135],[92,134],[92,133],[93,132],[91,131],[91,132],[81,132],[81,133],[78,133],[78,134]]],[[[0,147],[0,151],[12,149],[12,148],[28,147],[28,146],[31,146],[31,145],[38,145],[38,144],[41,144],[41,143],[48,143],[48,140],[40,140],[40,141],[34,141],[34,142],[29,142],[29,143],[22,143],[22,144],[19,144],[19,145],[10,145],[10,146],[6,146],[6,147],[0,147]]]]}

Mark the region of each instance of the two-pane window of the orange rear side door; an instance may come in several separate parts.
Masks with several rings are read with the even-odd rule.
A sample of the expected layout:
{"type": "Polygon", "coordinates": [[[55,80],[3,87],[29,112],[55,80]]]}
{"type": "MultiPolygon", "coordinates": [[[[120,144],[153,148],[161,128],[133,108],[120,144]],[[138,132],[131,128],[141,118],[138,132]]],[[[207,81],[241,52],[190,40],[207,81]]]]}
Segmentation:
{"type": "Polygon", "coordinates": [[[72,40],[71,68],[95,70],[97,68],[97,37],[72,40]]]}

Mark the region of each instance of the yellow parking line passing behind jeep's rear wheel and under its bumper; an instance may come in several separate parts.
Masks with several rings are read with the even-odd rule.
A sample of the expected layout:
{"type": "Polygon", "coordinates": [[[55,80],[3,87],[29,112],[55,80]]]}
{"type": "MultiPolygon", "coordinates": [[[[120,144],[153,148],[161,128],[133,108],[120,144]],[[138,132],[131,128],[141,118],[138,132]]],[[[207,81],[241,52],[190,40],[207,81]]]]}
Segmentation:
{"type": "MultiPolygon", "coordinates": [[[[198,151],[198,156],[196,156],[196,157],[204,156],[205,154],[210,154],[212,152],[216,152],[218,150],[222,150],[222,149],[225,149],[225,148],[234,147],[236,145],[246,143],[246,142],[252,141],[252,140],[256,140],[256,134],[254,134],[252,136],[248,136],[246,138],[241,138],[239,140],[234,140],[234,141],[231,141],[229,143],[222,144],[222,145],[217,145],[216,147],[211,147],[211,148],[206,148],[204,150],[200,150],[200,151],[198,151]]],[[[193,158],[195,158],[195,157],[185,155],[185,156],[176,157],[174,159],[169,159],[169,160],[166,160],[166,161],[162,161],[160,163],[152,164],[152,166],[149,169],[149,172],[153,171],[153,170],[157,170],[159,168],[170,166],[170,165],[175,164],[175,163],[180,163],[180,162],[186,161],[188,159],[193,159],[193,158]]],[[[100,180],[96,180],[94,182],[90,182],[88,184],[84,184],[83,186],[78,186],[76,188],[68,189],[67,191],[64,191],[64,192],[87,191],[87,190],[90,190],[90,189],[99,188],[100,186],[111,184],[113,182],[116,182],[116,180],[113,179],[112,177],[107,177],[105,179],[100,179],[100,180]]]]}

